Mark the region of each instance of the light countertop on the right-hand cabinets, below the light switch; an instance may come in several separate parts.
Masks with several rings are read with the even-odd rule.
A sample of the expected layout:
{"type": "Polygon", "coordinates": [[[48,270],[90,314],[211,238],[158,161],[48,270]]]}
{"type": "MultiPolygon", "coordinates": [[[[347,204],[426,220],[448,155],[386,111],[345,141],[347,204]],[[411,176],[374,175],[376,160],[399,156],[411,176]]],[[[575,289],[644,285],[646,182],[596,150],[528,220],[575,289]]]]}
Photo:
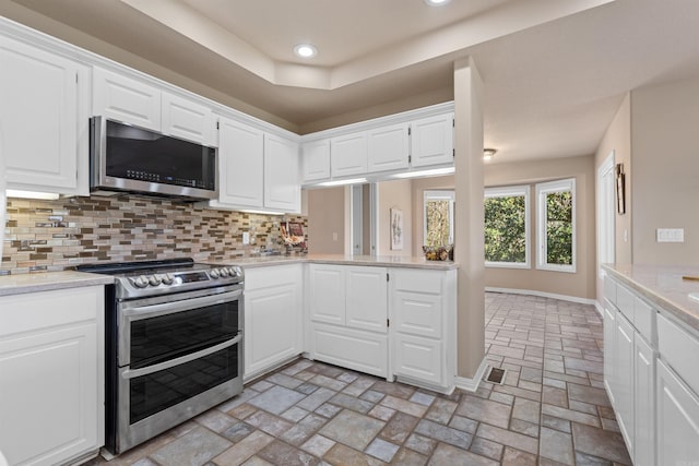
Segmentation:
{"type": "Polygon", "coordinates": [[[650,302],[699,331],[699,302],[688,297],[690,292],[699,292],[699,282],[682,278],[685,275],[699,277],[699,266],[604,264],[603,268],[650,302]]]}

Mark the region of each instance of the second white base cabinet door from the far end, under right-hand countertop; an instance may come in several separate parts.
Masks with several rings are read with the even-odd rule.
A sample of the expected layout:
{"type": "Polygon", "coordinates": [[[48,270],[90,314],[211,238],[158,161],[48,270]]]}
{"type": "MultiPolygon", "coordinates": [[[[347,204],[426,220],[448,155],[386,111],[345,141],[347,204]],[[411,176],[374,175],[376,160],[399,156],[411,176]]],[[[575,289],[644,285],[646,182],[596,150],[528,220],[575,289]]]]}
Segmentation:
{"type": "Polygon", "coordinates": [[[616,418],[619,422],[619,429],[626,440],[626,446],[629,450],[629,454],[633,457],[633,326],[621,314],[620,311],[616,313],[616,348],[615,357],[616,363],[614,370],[616,371],[615,387],[613,389],[614,395],[614,408],[616,410],[616,418]]]}

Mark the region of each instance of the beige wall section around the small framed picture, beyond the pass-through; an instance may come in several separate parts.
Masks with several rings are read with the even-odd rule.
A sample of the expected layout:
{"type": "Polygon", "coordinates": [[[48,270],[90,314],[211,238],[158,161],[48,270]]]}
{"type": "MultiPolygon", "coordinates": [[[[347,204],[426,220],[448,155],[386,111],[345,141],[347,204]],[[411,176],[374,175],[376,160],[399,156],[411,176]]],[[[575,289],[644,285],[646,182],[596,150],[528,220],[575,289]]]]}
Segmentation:
{"type": "Polygon", "coordinates": [[[377,242],[378,255],[413,255],[413,202],[412,181],[382,181],[377,184],[378,220],[377,242]],[[391,208],[403,211],[403,249],[391,250],[391,208]]]}

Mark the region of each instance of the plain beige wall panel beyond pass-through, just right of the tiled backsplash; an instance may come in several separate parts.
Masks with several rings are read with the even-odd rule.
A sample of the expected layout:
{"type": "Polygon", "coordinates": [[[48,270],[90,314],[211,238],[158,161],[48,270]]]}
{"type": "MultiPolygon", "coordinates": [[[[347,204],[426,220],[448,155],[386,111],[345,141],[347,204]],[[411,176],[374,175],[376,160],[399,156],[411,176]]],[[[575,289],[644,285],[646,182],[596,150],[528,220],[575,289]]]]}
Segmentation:
{"type": "Polygon", "coordinates": [[[308,252],[344,254],[345,188],[308,191],[308,252]],[[333,234],[337,239],[333,239],[333,234]]]}

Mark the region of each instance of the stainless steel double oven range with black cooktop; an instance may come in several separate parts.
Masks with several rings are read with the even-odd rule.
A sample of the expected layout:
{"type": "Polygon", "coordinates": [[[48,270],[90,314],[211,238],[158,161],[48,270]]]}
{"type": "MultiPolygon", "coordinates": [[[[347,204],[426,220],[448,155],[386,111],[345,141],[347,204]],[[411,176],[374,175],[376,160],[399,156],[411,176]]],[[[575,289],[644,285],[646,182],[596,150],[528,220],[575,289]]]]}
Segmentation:
{"type": "Polygon", "coordinates": [[[242,392],[240,267],[182,259],[76,270],[115,277],[105,325],[110,454],[242,392]]]}

